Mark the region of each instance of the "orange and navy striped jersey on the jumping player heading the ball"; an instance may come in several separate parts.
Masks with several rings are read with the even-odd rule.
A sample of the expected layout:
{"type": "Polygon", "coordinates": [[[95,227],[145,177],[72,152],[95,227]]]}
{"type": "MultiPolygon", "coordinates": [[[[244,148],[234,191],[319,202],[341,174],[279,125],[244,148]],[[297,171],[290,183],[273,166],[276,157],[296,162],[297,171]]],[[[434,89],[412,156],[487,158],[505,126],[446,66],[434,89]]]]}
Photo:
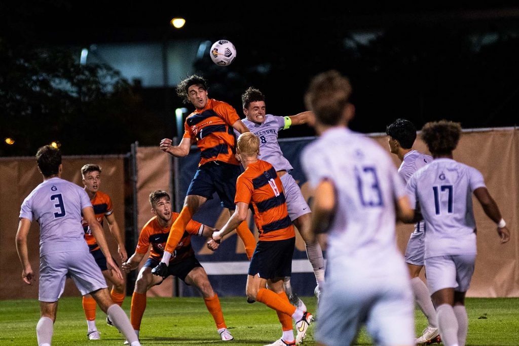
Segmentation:
{"type": "Polygon", "coordinates": [[[236,137],[233,124],[240,120],[228,103],[209,99],[203,109],[191,113],[184,123],[184,138],[197,141],[200,148],[199,166],[209,161],[239,165],[236,160],[236,137]]]}

